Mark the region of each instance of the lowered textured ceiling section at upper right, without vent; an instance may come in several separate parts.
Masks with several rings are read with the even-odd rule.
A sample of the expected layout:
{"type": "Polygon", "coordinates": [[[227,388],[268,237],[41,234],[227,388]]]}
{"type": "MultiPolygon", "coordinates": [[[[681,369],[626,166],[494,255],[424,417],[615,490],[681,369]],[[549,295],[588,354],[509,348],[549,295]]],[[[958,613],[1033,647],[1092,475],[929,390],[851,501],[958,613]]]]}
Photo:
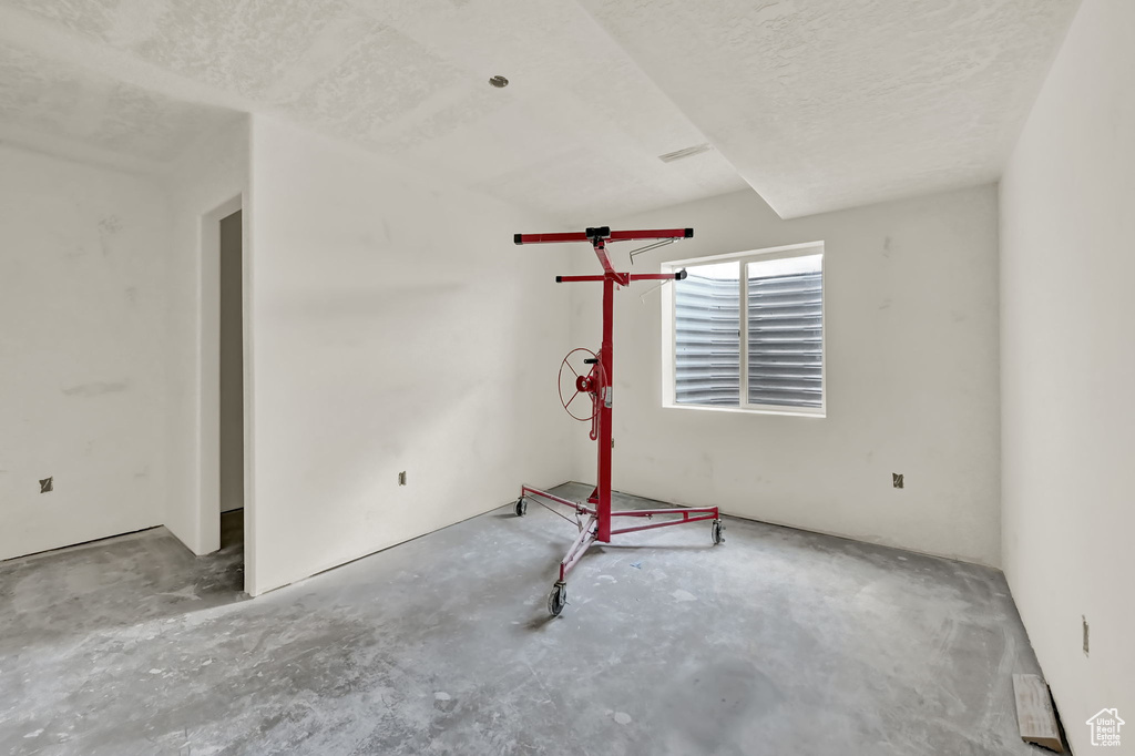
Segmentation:
{"type": "Polygon", "coordinates": [[[580,2],[782,217],[997,179],[1079,5],[580,2]]]}

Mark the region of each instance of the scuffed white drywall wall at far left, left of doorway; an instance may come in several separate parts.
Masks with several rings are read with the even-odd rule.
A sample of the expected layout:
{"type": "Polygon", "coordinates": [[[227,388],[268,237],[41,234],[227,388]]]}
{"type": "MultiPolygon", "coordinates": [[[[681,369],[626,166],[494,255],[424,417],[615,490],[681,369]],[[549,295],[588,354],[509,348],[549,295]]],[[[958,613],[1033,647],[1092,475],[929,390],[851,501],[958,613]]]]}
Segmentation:
{"type": "Polygon", "coordinates": [[[149,178],[0,145],[0,558],[162,521],[168,222],[149,178]]]}

